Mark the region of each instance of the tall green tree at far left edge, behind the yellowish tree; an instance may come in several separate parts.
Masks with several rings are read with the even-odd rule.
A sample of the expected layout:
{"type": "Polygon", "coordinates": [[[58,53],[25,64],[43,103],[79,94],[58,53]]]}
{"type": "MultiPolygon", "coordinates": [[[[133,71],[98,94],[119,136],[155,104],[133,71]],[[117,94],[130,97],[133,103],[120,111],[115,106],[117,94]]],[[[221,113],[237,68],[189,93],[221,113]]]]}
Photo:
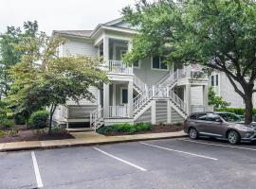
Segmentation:
{"type": "Polygon", "coordinates": [[[20,27],[8,26],[7,31],[0,34],[0,100],[3,96],[8,95],[9,84],[9,67],[20,61],[22,53],[15,50],[15,45],[20,43],[24,37],[34,37],[38,32],[36,21],[27,21],[24,23],[24,31],[20,27]]]}

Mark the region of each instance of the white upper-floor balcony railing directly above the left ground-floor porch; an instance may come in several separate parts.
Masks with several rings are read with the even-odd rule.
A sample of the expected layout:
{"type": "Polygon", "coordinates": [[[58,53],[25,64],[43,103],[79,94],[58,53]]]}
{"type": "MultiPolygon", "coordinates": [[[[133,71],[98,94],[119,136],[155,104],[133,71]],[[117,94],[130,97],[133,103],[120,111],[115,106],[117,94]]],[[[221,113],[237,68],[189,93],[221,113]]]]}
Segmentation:
{"type": "Polygon", "coordinates": [[[133,74],[133,68],[120,60],[109,60],[108,68],[110,73],[133,74]]]}

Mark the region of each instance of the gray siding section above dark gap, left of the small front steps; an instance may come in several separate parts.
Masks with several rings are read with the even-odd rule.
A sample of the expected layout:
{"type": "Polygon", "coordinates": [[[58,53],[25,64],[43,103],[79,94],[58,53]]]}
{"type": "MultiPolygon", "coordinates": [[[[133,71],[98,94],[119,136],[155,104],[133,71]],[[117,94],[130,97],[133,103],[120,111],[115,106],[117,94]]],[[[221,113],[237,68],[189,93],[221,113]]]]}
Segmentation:
{"type": "Polygon", "coordinates": [[[70,106],[68,107],[69,110],[69,119],[76,119],[76,118],[89,118],[90,113],[95,111],[98,107],[97,106],[70,106]]]}

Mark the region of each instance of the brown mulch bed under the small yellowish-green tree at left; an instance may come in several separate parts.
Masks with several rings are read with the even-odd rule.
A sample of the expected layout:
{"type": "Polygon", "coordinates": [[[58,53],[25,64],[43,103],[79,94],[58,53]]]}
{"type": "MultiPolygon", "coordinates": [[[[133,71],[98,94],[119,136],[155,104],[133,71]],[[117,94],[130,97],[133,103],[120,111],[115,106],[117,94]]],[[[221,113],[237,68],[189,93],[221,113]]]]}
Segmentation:
{"type": "MultiPolygon", "coordinates": [[[[6,131],[6,130],[3,130],[6,131]]],[[[8,130],[7,130],[8,132],[8,130]]],[[[0,137],[0,143],[22,142],[22,141],[47,141],[47,140],[62,140],[62,139],[74,139],[74,137],[66,131],[53,133],[48,135],[47,132],[36,133],[35,129],[26,129],[25,127],[19,127],[18,136],[5,136],[0,137]]]]}

